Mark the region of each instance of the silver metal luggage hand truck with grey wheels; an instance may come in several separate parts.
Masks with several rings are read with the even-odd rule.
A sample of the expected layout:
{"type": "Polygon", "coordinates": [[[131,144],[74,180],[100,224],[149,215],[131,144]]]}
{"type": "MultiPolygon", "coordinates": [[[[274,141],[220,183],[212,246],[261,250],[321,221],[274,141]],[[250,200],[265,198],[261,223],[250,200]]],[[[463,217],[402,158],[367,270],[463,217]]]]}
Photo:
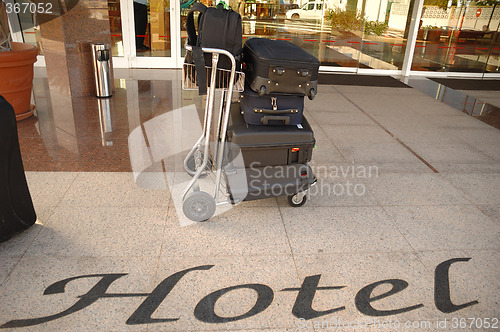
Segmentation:
{"type": "MultiPolygon", "coordinates": [[[[187,51],[192,51],[190,45],[185,46],[187,51]]],[[[184,169],[192,176],[182,193],[182,209],[184,215],[197,222],[210,219],[218,205],[235,203],[231,199],[231,193],[227,184],[222,183],[223,159],[225,157],[226,135],[231,108],[233,91],[243,92],[245,85],[245,74],[236,71],[236,60],[234,56],[226,50],[203,47],[204,53],[212,54],[212,66],[207,70],[207,97],[205,102],[205,112],[203,120],[203,132],[192,149],[184,159],[184,169]],[[231,69],[217,68],[220,56],[227,56],[231,60],[231,69]],[[214,122],[215,90],[221,90],[222,96],[217,118],[217,128],[215,130],[215,144],[213,151],[210,149],[210,134],[214,122]],[[215,190],[213,195],[201,191],[198,180],[215,173],[215,190]],[[225,188],[222,191],[221,188],[225,188]],[[223,199],[221,197],[223,193],[223,199]]],[[[198,90],[196,84],[195,65],[184,63],[182,73],[183,89],[198,90]]],[[[215,129],[215,128],[214,128],[215,129]]],[[[316,178],[314,178],[314,184],[316,178]]],[[[311,184],[311,185],[312,185],[311,184]]],[[[291,206],[302,206],[307,199],[307,188],[304,191],[295,193],[288,197],[291,206]]],[[[239,202],[236,202],[239,203],[239,202]]]]}

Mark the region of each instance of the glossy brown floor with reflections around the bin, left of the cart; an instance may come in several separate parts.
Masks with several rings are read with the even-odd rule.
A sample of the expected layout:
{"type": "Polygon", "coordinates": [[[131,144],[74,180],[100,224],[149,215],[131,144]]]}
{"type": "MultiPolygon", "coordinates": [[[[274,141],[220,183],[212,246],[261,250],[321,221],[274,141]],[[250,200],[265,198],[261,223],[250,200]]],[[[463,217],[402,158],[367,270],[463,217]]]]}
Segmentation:
{"type": "Polygon", "coordinates": [[[181,90],[179,70],[164,70],[161,76],[157,81],[117,79],[109,99],[59,95],[47,78],[35,78],[36,116],[18,123],[26,170],[131,171],[128,137],[133,129],[201,102],[196,93],[181,90]]]}

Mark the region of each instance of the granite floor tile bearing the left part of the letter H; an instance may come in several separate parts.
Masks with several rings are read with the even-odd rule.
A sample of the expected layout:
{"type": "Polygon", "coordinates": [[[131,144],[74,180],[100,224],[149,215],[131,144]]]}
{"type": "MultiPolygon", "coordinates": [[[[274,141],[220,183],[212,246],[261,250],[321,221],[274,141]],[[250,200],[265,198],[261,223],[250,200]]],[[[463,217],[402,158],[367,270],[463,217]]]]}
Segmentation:
{"type": "MultiPolygon", "coordinates": [[[[89,292],[99,280],[103,280],[104,277],[98,276],[102,274],[118,274],[107,289],[108,294],[151,292],[156,286],[154,272],[157,267],[158,257],[25,257],[0,288],[0,325],[62,312],[79,301],[78,297],[89,292]],[[44,295],[48,286],[79,276],[89,277],[69,281],[61,293],[44,295]]],[[[145,331],[146,324],[125,323],[144,299],[145,296],[100,298],[69,315],[13,330],[145,331]]]]}

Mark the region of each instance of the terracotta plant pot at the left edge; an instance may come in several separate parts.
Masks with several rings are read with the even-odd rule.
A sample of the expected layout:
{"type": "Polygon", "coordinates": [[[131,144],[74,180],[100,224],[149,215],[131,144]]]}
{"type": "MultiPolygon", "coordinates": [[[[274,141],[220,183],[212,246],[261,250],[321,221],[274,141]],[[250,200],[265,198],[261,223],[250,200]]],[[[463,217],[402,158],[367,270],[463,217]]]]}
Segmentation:
{"type": "Polygon", "coordinates": [[[31,105],[33,88],[33,64],[38,50],[24,43],[12,43],[11,52],[0,52],[0,95],[14,107],[16,120],[33,115],[31,105]]]}

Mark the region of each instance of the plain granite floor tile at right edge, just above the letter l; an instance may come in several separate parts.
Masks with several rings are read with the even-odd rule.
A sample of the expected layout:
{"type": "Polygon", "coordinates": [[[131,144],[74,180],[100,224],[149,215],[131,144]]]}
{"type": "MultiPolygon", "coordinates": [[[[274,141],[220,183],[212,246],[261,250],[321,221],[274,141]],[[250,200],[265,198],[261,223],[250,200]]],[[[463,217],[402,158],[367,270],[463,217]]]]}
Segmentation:
{"type": "Polygon", "coordinates": [[[385,209],[417,251],[500,248],[500,225],[475,206],[398,206],[385,209]]]}

